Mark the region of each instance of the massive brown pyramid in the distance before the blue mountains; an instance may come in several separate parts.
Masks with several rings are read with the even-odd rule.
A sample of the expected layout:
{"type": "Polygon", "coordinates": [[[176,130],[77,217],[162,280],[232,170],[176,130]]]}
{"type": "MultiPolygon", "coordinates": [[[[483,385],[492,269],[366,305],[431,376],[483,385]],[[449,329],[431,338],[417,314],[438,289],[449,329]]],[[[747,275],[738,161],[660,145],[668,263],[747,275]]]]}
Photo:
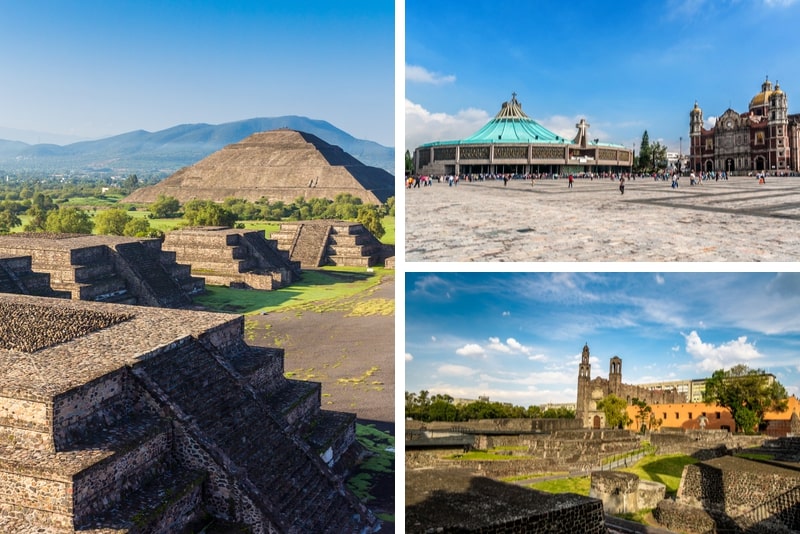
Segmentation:
{"type": "Polygon", "coordinates": [[[292,202],[350,193],[382,204],[394,195],[394,177],[309,133],[279,129],[251,135],[164,181],[138,189],[124,202],[154,202],[159,195],[188,200],[292,202]]]}

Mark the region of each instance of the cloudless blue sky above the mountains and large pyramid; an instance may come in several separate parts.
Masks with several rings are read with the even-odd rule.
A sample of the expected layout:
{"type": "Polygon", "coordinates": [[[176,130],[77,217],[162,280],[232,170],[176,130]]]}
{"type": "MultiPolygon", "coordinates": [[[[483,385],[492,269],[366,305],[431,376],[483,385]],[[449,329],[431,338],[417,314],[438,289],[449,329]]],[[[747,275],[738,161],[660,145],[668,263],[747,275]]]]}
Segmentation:
{"type": "Polygon", "coordinates": [[[391,0],[0,0],[0,20],[0,137],[302,115],[395,144],[391,0]]]}

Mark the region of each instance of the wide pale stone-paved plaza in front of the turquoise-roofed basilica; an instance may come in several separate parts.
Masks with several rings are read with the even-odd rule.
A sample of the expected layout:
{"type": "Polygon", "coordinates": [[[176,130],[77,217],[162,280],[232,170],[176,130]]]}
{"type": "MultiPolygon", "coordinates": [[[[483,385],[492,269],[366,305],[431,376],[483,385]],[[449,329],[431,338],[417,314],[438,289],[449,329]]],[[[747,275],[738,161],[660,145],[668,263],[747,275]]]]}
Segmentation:
{"type": "Polygon", "coordinates": [[[405,205],[409,262],[800,260],[800,177],[434,182],[405,205]]]}

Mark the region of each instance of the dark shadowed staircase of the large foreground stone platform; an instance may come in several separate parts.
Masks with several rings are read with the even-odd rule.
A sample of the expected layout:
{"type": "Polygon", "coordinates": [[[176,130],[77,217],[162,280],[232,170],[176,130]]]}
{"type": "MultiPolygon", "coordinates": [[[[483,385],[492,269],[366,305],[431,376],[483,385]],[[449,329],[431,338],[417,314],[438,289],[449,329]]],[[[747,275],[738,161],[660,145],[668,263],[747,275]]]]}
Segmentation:
{"type": "Polygon", "coordinates": [[[246,378],[230,362],[187,343],[143,361],[134,373],[279,531],[358,532],[373,521],[322,459],[289,432],[287,421],[274,417],[245,386],[246,378]]]}

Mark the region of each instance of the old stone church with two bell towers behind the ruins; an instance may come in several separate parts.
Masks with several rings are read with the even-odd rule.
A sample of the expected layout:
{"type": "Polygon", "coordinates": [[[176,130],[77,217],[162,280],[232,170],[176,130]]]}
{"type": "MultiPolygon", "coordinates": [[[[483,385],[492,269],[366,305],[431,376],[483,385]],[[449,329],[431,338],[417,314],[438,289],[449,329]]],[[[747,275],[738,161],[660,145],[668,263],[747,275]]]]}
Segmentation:
{"type": "Polygon", "coordinates": [[[589,363],[589,345],[583,346],[581,363],[578,368],[578,399],[575,407],[575,418],[583,422],[584,428],[605,428],[606,417],[597,403],[608,395],[616,395],[631,404],[639,399],[647,404],[674,404],[686,402],[686,396],[676,390],[650,390],[641,386],[622,383],[622,358],[611,358],[608,379],[596,377],[592,379],[592,366],[589,363]]]}

